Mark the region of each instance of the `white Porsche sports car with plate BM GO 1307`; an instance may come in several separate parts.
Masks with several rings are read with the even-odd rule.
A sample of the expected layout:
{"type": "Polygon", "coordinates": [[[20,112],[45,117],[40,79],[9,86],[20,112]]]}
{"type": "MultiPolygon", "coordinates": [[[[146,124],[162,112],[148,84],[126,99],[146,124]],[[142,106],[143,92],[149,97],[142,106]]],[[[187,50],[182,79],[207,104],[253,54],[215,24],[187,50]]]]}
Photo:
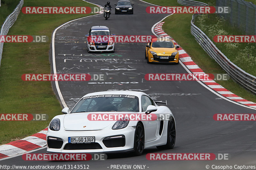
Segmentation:
{"type": "Polygon", "coordinates": [[[83,96],[49,124],[47,152],[135,152],[171,149],[176,138],[171,110],[136,91],[103,91],[83,96]]]}

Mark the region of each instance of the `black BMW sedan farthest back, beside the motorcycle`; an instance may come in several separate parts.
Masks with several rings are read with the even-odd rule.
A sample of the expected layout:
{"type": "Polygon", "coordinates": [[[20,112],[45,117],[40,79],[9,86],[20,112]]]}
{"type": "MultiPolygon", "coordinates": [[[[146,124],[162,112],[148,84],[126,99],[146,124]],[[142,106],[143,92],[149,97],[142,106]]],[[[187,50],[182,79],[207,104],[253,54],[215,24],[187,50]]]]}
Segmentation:
{"type": "Polygon", "coordinates": [[[121,0],[115,4],[115,14],[133,14],[133,4],[128,0],[121,0]]]}

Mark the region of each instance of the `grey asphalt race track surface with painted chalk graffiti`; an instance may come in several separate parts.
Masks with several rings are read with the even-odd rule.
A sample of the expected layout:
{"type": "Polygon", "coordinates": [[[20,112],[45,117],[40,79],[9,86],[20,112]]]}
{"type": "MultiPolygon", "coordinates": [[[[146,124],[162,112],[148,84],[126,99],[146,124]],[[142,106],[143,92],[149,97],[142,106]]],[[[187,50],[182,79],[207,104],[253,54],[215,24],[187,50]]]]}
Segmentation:
{"type": "MultiPolygon", "coordinates": [[[[104,5],[102,0],[90,1],[104,5]]],[[[117,1],[111,1],[112,7],[117,1]]],[[[55,61],[58,74],[104,74],[105,81],[60,81],[65,103],[71,109],[84,94],[105,90],[143,91],[153,99],[167,100],[176,119],[176,144],[171,150],[156,147],[143,155],[110,154],[104,161],[24,161],[21,156],[5,159],[2,165],[81,165],[91,170],[110,169],[110,165],[146,165],[145,169],[206,169],[206,165],[255,165],[255,121],[214,121],[216,113],[256,113],[215,95],[196,81],[146,81],[148,73],[187,73],[179,65],[148,64],[144,59],[145,43],[116,43],[115,53],[88,53],[84,35],[92,26],[105,25],[116,35],[153,35],[151,27],[166,14],[148,14],[150,6],[132,1],[133,15],[115,15],[108,20],[102,14],[78,19],[60,27],[55,34],[55,61]],[[147,160],[147,153],[228,153],[228,160],[147,160]]],[[[175,14],[174,14],[175,15],[175,14]]],[[[171,16],[171,17],[174,17],[171,16]]],[[[175,25],[179,26],[179,25],[175,25]]],[[[181,44],[182,46],[182,44],[181,44]]],[[[50,52],[52,62],[52,53],[50,52]]],[[[52,63],[51,63],[52,65],[52,63]]],[[[52,68],[53,73],[53,68],[52,68]]],[[[55,83],[52,84],[55,86],[55,83]]],[[[54,87],[56,94],[56,87],[54,87]]],[[[61,114],[61,112],[60,112],[61,114]]],[[[45,153],[46,148],[33,153],[45,153]]]]}

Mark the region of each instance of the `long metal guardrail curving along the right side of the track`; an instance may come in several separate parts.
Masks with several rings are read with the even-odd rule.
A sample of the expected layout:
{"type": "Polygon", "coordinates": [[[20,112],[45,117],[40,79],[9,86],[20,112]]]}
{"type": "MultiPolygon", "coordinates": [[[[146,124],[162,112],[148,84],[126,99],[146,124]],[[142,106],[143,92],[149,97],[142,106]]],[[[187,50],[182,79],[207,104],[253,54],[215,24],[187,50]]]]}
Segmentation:
{"type": "MultiPolygon", "coordinates": [[[[188,6],[192,6],[193,4],[191,3],[191,0],[178,0],[178,3],[182,1],[183,4],[186,4],[188,6]]],[[[200,2],[198,2],[200,4],[200,2]]],[[[202,3],[204,4],[204,3],[202,3]]],[[[204,5],[203,5],[204,6],[204,5]]],[[[195,24],[194,24],[194,19],[195,19],[194,14],[192,16],[191,20],[191,34],[194,35],[196,38],[196,41],[199,43],[199,45],[204,49],[206,53],[210,55],[219,65],[224,69],[235,81],[240,83],[244,88],[252,91],[254,94],[256,94],[256,77],[246,73],[244,70],[241,68],[237,67],[234,63],[232,63],[207,37],[207,35],[200,30],[195,24]]]]}

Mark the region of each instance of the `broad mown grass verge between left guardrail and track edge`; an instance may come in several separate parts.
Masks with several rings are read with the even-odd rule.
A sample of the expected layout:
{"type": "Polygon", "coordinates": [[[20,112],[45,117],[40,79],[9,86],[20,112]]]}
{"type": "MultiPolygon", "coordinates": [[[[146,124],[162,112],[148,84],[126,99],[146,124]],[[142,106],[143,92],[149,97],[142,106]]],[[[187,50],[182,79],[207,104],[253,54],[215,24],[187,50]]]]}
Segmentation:
{"type": "MultiPolygon", "coordinates": [[[[24,6],[94,6],[81,0],[24,1],[24,6]]],[[[88,14],[23,14],[9,35],[46,35],[59,25],[88,14]]],[[[46,43],[4,43],[0,67],[0,113],[48,114],[47,121],[1,121],[0,144],[24,138],[49,125],[61,106],[50,81],[22,81],[22,74],[49,74],[49,40],[46,43]]]]}

